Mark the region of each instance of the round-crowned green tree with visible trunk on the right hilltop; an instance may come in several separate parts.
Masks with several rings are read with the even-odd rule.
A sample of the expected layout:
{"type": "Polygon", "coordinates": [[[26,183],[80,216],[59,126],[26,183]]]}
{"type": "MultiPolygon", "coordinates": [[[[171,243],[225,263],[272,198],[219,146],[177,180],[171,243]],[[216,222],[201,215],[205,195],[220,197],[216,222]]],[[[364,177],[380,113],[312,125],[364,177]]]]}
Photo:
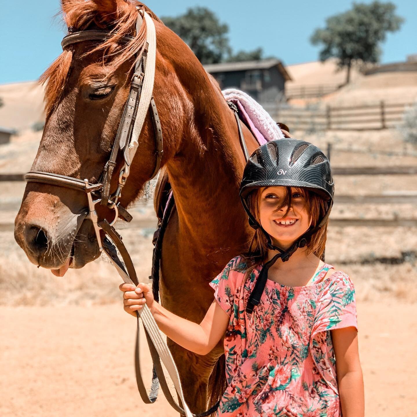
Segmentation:
{"type": "Polygon", "coordinates": [[[403,21],[395,15],[393,3],[353,3],[352,10],[329,17],[326,28],[316,29],[310,41],[324,46],[320,51],[322,62],[335,57],[340,68],[347,68],[349,83],[352,64],[377,63],[381,55],[379,44],[387,32],[399,30],[403,21]]]}

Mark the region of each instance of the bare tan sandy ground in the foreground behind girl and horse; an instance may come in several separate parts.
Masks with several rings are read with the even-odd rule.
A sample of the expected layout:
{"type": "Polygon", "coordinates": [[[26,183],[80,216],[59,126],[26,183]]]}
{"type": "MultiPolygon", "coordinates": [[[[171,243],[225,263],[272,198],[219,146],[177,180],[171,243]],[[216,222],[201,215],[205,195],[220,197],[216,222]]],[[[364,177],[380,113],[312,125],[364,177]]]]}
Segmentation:
{"type": "MultiPolygon", "coordinates": [[[[415,305],[359,302],[357,308],[366,416],[414,415],[415,305]]],[[[139,397],[133,368],[136,322],[121,305],[0,307],[0,320],[1,416],[178,415],[162,393],[156,404],[143,404],[139,397]]],[[[146,343],[141,352],[150,382],[146,343]]]]}

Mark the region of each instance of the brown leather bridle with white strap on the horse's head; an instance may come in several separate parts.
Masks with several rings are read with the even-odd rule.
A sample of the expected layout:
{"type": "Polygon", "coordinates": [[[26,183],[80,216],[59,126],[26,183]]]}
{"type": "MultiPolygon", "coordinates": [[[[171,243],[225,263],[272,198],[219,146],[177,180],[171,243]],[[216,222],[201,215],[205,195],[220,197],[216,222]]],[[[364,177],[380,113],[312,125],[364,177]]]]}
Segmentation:
{"type": "MultiPolygon", "coordinates": [[[[143,11],[139,10],[138,18],[136,20],[136,34],[139,33],[139,29],[141,28],[143,21],[142,16],[143,11]]],[[[66,47],[79,42],[92,40],[105,41],[108,39],[109,34],[110,32],[106,30],[83,30],[70,33],[63,38],[61,46],[64,50],[66,47]]],[[[147,33],[146,42],[136,55],[137,59],[131,78],[129,96],[123,108],[121,122],[113,142],[110,158],[103,168],[99,183],[91,184],[87,179],[82,180],[80,178],[43,171],[29,171],[25,175],[26,181],[72,188],[86,193],[88,199],[88,212],[86,212],[85,218],[90,219],[93,222],[100,252],[103,250],[103,242],[100,237],[100,226],[98,225],[97,213],[95,211],[96,204],[100,203],[102,206],[108,206],[108,208],[114,209],[114,219],[109,224],[110,226],[113,226],[119,217],[128,222],[132,220],[132,216],[128,213],[126,208],[121,206],[118,200],[121,197],[123,186],[126,184],[126,180],[129,176],[131,162],[138,146],[138,136],[141,133],[148,109],[153,121],[156,142],[156,162],[151,179],[156,176],[159,168],[161,168],[163,156],[162,129],[156,104],[152,96],[155,75],[154,51],[148,58],[149,42],[152,40],[156,41],[156,39],[149,39],[149,35],[152,37],[152,33],[147,33]],[[113,171],[116,168],[116,159],[119,153],[123,154],[124,165],[119,172],[117,189],[114,193],[110,194],[111,179],[113,171]]],[[[154,31],[153,38],[155,38],[154,31]]],[[[134,40],[133,36],[124,35],[119,39],[119,42],[121,44],[127,44],[132,40],[134,40]]]]}

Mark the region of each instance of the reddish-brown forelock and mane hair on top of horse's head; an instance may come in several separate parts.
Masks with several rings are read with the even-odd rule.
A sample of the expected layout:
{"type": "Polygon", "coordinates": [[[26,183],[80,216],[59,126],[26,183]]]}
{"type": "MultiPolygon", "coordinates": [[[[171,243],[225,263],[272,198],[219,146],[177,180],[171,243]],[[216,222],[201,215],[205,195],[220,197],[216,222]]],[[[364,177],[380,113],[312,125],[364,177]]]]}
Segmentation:
{"type": "MultiPolygon", "coordinates": [[[[135,37],[127,45],[121,46],[115,58],[108,63],[109,75],[111,75],[121,64],[133,58],[145,43],[145,19],[143,19],[139,33],[135,33],[138,16],[137,6],[145,10],[153,20],[161,22],[146,5],[137,0],[63,0],[62,12],[71,33],[97,28],[109,31],[109,38],[104,43],[97,45],[84,55],[101,51],[104,58],[108,48],[117,43],[123,35],[135,37]]],[[[73,51],[72,45],[65,48],[39,78],[39,82],[45,84],[45,112],[47,115],[55,108],[63,95],[65,81],[73,59],[73,51]]],[[[135,61],[132,65],[135,64],[135,61]]]]}

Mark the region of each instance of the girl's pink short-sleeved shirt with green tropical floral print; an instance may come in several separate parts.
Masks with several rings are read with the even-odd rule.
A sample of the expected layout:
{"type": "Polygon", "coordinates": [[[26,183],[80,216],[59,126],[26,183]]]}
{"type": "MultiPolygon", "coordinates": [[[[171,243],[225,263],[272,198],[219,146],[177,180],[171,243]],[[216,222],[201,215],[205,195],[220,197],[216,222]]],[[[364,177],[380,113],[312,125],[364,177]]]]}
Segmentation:
{"type": "Polygon", "coordinates": [[[240,257],[210,283],[230,316],[224,339],[228,387],[218,416],[341,416],[330,330],[357,328],[355,290],[342,271],[323,279],[324,264],[308,286],[269,280],[252,314],[247,300],[262,265],[247,275],[240,257]]]}

